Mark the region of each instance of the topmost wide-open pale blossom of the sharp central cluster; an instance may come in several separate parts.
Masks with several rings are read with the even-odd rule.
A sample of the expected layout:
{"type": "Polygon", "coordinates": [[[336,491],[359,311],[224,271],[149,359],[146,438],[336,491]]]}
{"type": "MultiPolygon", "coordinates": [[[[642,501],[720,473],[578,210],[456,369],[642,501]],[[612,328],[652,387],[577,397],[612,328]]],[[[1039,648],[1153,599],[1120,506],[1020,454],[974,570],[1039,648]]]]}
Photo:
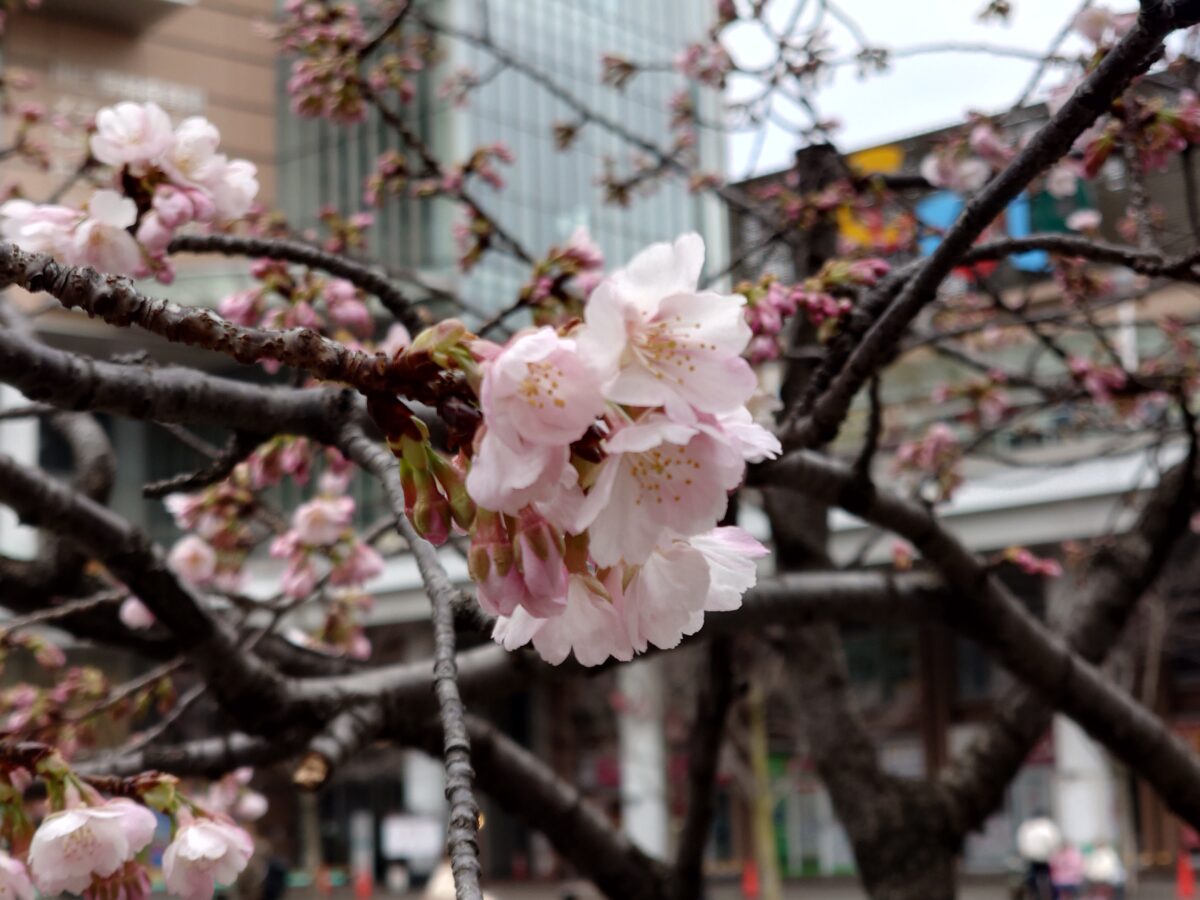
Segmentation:
{"type": "Polygon", "coordinates": [[[686,418],[734,409],[757,378],[742,352],[750,341],[745,298],[698,292],[704,242],[685,234],[643,250],[600,283],[584,310],[581,355],[604,376],[604,395],[686,418]]]}

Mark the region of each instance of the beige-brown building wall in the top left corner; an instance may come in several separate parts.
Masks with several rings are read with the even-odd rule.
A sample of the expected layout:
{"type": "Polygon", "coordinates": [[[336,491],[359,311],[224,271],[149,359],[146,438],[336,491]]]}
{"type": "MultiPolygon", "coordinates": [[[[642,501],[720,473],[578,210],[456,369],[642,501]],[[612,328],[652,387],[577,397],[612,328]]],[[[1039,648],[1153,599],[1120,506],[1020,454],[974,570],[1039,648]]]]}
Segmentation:
{"type": "MultiPolygon", "coordinates": [[[[43,0],[40,11],[10,22],[5,67],[36,80],[16,100],[44,103],[73,121],[122,100],[152,100],[175,120],[209,118],[226,154],[258,166],[260,198],[271,206],[276,56],[257,24],[274,10],[275,0],[43,0]]],[[[53,190],[84,151],[78,133],[47,127],[40,136],[54,157],[49,173],[4,166],[31,199],[53,190]]]]}

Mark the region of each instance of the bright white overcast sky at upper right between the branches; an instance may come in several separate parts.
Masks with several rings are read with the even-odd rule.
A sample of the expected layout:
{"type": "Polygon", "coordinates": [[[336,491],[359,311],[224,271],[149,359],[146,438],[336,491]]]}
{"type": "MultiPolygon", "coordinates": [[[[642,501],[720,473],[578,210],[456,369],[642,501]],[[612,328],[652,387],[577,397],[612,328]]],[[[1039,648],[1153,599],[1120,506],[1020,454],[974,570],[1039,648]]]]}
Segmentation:
{"type": "MultiPolygon", "coordinates": [[[[842,0],[844,8],[876,46],[902,49],[917,44],[986,42],[1002,47],[1045,53],[1055,35],[1079,8],[1080,0],[1013,0],[1008,24],[978,20],[985,0],[842,0]]],[[[776,2],[782,12],[786,2],[776,2]]],[[[808,4],[816,7],[816,4],[808,4]]],[[[1112,5],[1123,12],[1128,4],[1112,5]]],[[[743,65],[762,62],[764,48],[761,34],[736,26],[726,47],[743,65]]],[[[830,43],[840,55],[852,53],[856,44],[844,26],[833,23],[830,43]]],[[[1062,52],[1079,52],[1082,42],[1074,35],[1062,52]]],[[[929,131],[961,121],[970,109],[996,113],[1007,109],[1021,94],[1036,64],[979,53],[937,53],[898,59],[882,74],[859,78],[853,66],[836,70],[814,96],[823,119],[838,119],[841,128],[835,142],[844,150],[871,146],[889,139],[929,131]]],[[[1063,80],[1061,68],[1051,68],[1043,85],[1063,80]]],[[[733,85],[731,94],[745,90],[733,85]]],[[[794,110],[784,109],[788,119],[800,120],[794,110]]],[[[748,173],[752,154],[752,134],[738,134],[728,142],[730,174],[748,173]]],[[[762,145],[755,172],[774,172],[791,160],[796,139],[772,127],[762,145]]]]}

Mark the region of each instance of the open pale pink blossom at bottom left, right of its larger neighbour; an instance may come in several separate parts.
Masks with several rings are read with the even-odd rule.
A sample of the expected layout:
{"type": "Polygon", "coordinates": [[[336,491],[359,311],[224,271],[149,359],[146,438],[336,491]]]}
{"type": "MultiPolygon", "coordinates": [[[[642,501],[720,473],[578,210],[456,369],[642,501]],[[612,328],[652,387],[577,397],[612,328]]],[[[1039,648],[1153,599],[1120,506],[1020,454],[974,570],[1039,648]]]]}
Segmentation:
{"type": "Polygon", "coordinates": [[[250,835],[232,822],[190,822],[162,854],[167,889],[184,900],[208,900],[217,884],[236,881],[253,852],[250,835]]]}

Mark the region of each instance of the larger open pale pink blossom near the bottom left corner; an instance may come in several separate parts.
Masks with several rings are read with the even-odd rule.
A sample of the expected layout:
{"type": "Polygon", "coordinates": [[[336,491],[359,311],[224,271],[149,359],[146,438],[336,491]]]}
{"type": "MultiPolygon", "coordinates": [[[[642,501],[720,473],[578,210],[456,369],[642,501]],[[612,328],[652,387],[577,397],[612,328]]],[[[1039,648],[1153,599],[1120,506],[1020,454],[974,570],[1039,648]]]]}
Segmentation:
{"type": "Polygon", "coordinates": [[[34,882],[48,896],[82,894],[94,876],[113,875],[145,847],[155,827],[150,810],[126,799],[52,812],[29,847],[34,882]]]}

